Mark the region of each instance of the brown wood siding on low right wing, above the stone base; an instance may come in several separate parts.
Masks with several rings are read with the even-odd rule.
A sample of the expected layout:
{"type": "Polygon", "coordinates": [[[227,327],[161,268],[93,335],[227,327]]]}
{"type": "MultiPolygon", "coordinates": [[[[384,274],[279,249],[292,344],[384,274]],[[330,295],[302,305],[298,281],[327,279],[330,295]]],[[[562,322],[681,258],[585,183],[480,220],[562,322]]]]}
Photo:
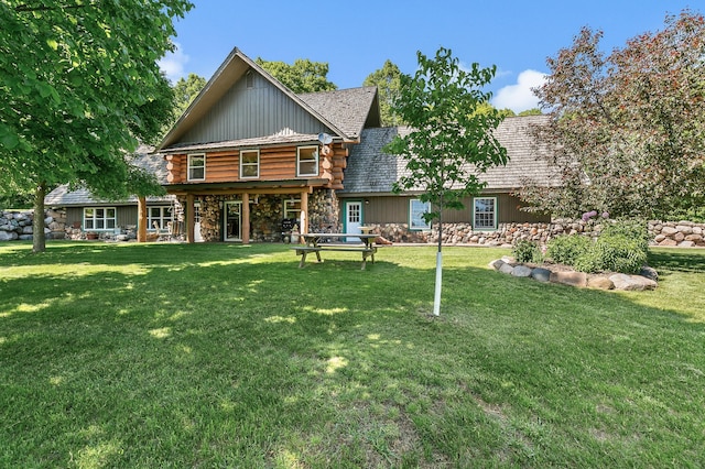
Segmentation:
{"type": "MultiPolygon", "coordinates": [[[[520,210],[522,203],[509,194],[486,194],[480,197],[497,197],[497,221],[511,222],[550,222],[551,216],[520,210]]],[[[409,200],[416,197],[365,197],[365,223],[406,223],[409,222],[409,200]]],[[[347,200],[347,198],[346,198],[347,200]]],[[[360,200],[350,198],[349,200],[360,200]]],[[[443,221],[448,223],[470,223],[473,221],[473,199],[466,198],[464,210],[445,210],[443,221]]]]}

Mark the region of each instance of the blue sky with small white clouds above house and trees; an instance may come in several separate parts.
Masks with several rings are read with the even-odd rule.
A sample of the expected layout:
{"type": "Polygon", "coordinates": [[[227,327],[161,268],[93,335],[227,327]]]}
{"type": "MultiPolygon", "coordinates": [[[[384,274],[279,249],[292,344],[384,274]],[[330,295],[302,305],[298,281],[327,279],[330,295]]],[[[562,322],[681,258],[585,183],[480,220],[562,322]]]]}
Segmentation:
{"type": "Polygon", "coordinates": [[[328,63],[338,88],[362,85],[391,59],[413,74],[416,51],[451,48],[463,65],[497,65],[494,103],[519,112],[536,106],[530,92],[547,73],[546,57],[572,44],[582,26],[603,30],[606,52],[663,28],[666,13],[705,12],[702,0],[192,0],[176,22],[178,50],[162,68],[172,80],[209,79],[239,47],[250,58],[328,63]]]}

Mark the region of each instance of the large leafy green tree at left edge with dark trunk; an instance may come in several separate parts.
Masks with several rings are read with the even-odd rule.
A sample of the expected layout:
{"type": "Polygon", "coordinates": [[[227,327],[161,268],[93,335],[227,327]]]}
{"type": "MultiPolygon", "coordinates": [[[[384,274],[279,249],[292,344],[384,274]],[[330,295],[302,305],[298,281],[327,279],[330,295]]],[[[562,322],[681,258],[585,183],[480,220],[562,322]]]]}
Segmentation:
{"type": "Polygon", "coordinates": [[[173,109],[156,61],[186,0],[0,1],[0,183],[34,190],[34,246],[44,251],[48,187],[84,185],[120,198],[161,188],[130,165],[173,109]],[[31,44],[31,46],[28,46],[31,44]]]}

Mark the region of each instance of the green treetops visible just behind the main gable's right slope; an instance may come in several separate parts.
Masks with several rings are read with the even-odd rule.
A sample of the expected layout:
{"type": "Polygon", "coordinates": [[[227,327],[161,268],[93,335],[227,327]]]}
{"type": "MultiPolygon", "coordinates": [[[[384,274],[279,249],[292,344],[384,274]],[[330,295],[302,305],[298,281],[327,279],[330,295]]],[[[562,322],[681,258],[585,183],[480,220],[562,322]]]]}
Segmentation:
{"type": "Polygon", "coordinates": [[[328,81],[327,62],[296,58],[289,65],[285,62],[270,62],[261,57],[257,57],[254,62],[295,94],[332,91],[338,88],[328,81]]]}

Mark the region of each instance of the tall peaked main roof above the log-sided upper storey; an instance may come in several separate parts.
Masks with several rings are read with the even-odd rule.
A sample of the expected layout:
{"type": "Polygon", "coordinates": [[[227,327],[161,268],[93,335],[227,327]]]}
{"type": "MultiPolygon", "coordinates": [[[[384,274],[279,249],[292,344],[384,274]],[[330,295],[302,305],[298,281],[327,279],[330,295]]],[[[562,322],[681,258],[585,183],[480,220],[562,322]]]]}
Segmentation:
{"type": "MultiPolygon", "coordinates": [[[[188,106],[176,123],[170,129],[158,146],[158,150],[169,152],[172,149],[180,148],[181,139],[204,119],[209,110],[213,109],[230,88],[250,69],[254,70],[254,73],[260,75],[272,87],[291,99],[300,109],[321,122],[323,127],[329,129],[334,133],[334,138],[355,142],[358,140],[365,123],[370,119],[373,122],[375,116],[378,116],[377,122],[379,124],[377,88],[352,88],[300,96],[291,91],[254,61],[235,47],[198,96],[196,96],[191,106],[188,106]],[[375,111],[375,109],[377,109],[377,111],[375,111]]],[[[279,132],[272,135],[252,137],[269,138],[270,141],[275,142],[278,133],[279,132]]],[[[317,134],[308,134],[306,137],[308,137],[308,139],[313,137],[313,140],[315,140],[317,134]]],[[[238,140],[228,141],[230,142],[228,146],[239,146],[238,140]]],[[[197,143],[217,142],[191,142],[191,145],[194,146],[197,143]]]]}

